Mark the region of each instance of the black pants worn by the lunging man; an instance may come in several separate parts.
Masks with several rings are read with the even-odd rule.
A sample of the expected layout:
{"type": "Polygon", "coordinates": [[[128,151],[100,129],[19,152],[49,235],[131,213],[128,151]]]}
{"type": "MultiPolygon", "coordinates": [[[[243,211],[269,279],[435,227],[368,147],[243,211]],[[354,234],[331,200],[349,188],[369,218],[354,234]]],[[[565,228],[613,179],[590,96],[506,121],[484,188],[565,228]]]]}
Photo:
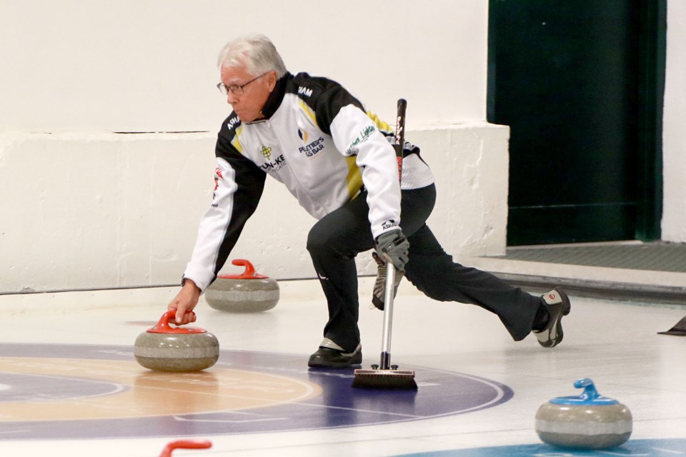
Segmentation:
{"type": "MultiPolygon", "coordinates": [[[[405,276],[434,300],[472,303],[497,314],[512,338],[522,340],[531,331],[541,298],[490,273],[454,263],[426,224],[435,201],[433,184],[402,191],[400,226],[409,241],[405,276]]],[[[359,343],[354,258],[357,253],[374,248],[368,214],[367,194],[363,192],[317,221],[307,238],[307,250],[329,306],[324,337],[347,351],[354,350],[359,343]]]]}

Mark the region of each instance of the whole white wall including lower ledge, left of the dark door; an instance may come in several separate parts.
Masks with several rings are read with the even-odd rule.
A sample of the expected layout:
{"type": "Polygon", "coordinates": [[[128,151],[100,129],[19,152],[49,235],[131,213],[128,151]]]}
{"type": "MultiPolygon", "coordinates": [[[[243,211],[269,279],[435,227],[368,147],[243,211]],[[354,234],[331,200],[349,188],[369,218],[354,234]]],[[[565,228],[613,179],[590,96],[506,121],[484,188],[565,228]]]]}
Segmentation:
{"type": "MultiPolygon", "coordinates": [[[[508,129],[484,122],[487,1],[3,0],[0,293],[179,281],[230,111],[216,56],[249,32],[384,119],[407,98],[408,139],[441,189],[434,231],[452,253],[504,251],[508,129]]],[[[231,258],[312,277],[312,223],[268,180],[231,258]],[[288,223],[271,231],[274,219],[288,223]]],[[[369,256],[359,267],[372,273],[369,256]]]]}

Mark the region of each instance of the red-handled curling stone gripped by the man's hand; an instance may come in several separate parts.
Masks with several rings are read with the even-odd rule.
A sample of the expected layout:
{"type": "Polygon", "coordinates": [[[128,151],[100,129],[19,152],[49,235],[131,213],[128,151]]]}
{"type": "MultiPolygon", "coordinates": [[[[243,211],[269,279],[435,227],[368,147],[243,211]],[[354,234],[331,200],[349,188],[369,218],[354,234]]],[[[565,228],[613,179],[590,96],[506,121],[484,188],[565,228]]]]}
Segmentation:
{"type": "Polygon", "coordinates": [[[175,314],[166,311],[156,326],[136,338],[136,361],[154,371],[177,373],[200,371],[217,363],[217,337],[204,328],[169,326],[175,314]]]}

